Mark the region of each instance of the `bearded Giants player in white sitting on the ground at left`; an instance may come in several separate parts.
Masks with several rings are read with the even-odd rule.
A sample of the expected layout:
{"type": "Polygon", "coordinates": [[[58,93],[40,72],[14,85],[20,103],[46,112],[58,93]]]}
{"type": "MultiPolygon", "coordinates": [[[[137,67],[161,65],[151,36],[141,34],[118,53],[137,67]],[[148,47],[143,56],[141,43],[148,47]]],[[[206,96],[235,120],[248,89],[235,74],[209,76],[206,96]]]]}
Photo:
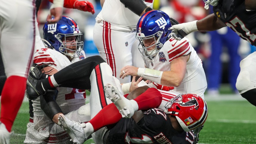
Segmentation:
{"type": "MultiPolygon", "coordinates": [[[[56,24],[45,23],[43,30],[43,41],[48,47],[37,50],[33,58],[34,63],[42,67],[40,70],[44,74],[53,75],[64,67],[85,58],[84,44],[83,41],[80,41],[82,33],[72,18],[62,16],[61,20],[56,24]]],[[[36,66],[32,66],[31,69],[34,69],[33,72],[37,73],[36,66]]],[[[30,77],[28,76],[28,78],[30,77]]],[[[85,90],[59,88],[58,98],[56,99],[56,103],[59,106],[57,110],[60,110],[59,113],[64,114],[77,110],[79,107],[84,106],[85,97],[85,90]]],[[[32,126],[27,127],[24,143],[42,143],[43,141],[51,143],[53,138],[56,141],[62,140],[61,142],[63,143],[64,131],[53,123],[58,123],[58,115],[55,116],[56,118],[51,116],[51,119],[49,119],[46,116],[49,112],[43,108],[44,104],[54,106],[56,103],[48,102],[47,100],[44,102],[43,100],[42,97],[32,100],[34,123],[32,126]]],[[[90,114],[88,117],[87,120],[90,120],[90,114]]],[[[81,120],[86,121],[85,119],[81,120]]]]}

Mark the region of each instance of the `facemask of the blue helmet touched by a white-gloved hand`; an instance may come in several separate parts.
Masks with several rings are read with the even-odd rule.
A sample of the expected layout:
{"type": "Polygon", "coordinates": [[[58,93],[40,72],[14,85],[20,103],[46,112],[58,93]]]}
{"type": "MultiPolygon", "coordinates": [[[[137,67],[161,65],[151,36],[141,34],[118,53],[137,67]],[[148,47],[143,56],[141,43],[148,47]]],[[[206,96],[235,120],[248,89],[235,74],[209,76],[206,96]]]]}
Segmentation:
{"type": "Polygon", "coordinates": [[[138,49],[140,50],[141,54],[144,57],[147,57],[150,60],[154,58],[154,56],[158,53],[158,51],[164,45],[160,42],[160,38],[162,37],[162,35],[163,35],[162,31],[158,31],[155,34],[149,35],[149,36],[145,36],[143,33],[137,33],[136,39],[140,41],[140,45],[141,45],[141,47],[140,45],[138,46],[138,49]],[[146,47],[145,40],[148,40],[150,38],[154,38],[155,42],[152,45],[146,47]],[[148,50],[151,47],[154,47],[154,49],[148,50]]]}

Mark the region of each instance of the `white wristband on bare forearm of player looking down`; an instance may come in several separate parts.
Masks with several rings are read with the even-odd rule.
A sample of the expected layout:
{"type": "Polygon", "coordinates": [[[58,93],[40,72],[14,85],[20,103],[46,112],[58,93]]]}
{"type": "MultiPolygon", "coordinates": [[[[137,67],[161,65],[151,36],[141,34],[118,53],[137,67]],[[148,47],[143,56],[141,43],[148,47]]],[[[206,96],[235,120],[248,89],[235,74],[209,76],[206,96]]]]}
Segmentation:
{"type": "Polygon", "coordinates": [[[163,71],[149,68],[139,68],[137,72],[138,76],[159,84],[161,84],[162,74],[163,71]]]}

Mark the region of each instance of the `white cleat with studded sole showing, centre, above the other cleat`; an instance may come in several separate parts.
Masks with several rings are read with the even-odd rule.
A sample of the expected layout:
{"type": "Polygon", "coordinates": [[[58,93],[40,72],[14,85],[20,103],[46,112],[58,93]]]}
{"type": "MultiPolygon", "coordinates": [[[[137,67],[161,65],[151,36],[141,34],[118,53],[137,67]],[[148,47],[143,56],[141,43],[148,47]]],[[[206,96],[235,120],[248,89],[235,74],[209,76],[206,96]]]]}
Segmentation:
{"type": "Polygon", "coordinates": [[[104,86],[106,97],[109,98],[117,107],[122,117],[131,118],[134,114],[134,108],[130,100],[126,99],[120,94],[117,88],[111,84],[106,84],[104,86]]]}

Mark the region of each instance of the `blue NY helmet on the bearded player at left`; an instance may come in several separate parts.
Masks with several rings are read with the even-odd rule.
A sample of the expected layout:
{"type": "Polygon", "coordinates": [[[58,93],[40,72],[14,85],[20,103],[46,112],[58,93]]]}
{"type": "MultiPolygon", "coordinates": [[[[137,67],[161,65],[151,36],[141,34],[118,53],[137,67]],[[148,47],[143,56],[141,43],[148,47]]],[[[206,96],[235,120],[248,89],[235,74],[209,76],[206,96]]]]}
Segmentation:
{"type": "Polygon", "coordinates": [[[44,39],[42,40],[52,49],[55,49],[70,57],[78,57],[78,55],[74,55],[74,52],[81,52],[83,50],[84,42],[81,41],[82,33],[72,18],[62,16],[62,18],[55,24],[47,24],[46,22],[44,24],[43,30],[44,39]],[[66,42],[66,38],[70,36],[75,36],[76,42],[66,42]],[[70,45],[76,46],[76,49],[68,49],[67,46],[70,45]],[[68,50],[73,52],[68,53],[68,50]]]}

